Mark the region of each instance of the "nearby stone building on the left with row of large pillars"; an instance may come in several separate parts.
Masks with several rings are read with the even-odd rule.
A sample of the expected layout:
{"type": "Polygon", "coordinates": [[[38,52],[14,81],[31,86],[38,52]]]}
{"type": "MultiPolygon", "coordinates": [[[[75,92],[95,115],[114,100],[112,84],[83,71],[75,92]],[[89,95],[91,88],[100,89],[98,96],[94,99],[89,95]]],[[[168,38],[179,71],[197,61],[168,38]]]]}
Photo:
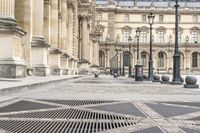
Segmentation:
{"type": "Polygon", "coordinates": [[[0,0],[0,77],[96,71],[93,0],[0,0]]]}

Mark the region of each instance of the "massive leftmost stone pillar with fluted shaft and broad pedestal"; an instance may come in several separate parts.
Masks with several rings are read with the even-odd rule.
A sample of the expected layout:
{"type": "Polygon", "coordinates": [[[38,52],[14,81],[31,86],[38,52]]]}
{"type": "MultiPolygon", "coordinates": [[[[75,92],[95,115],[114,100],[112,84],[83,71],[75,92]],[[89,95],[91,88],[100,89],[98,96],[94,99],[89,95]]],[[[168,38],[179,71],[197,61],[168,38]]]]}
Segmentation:
{"type": "Polygon", "coordinates": [[[0,0],[0,77],[26,76],[22,37],[15,20],[15,0],[0,0]]]}

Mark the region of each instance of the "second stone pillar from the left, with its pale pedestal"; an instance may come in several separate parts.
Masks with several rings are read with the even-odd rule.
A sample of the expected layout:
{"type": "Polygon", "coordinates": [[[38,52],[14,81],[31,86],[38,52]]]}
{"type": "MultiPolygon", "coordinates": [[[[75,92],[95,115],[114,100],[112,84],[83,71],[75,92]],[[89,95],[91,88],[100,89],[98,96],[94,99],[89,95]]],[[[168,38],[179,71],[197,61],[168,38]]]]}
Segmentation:
{"type": "Polygon", "coordinates": [[[32,65],[33,74],[47,76],[50,74],[48,66],[48,48],[43,36],[44,26],[44,0],[33,0],[32,15],[32,65]]]}

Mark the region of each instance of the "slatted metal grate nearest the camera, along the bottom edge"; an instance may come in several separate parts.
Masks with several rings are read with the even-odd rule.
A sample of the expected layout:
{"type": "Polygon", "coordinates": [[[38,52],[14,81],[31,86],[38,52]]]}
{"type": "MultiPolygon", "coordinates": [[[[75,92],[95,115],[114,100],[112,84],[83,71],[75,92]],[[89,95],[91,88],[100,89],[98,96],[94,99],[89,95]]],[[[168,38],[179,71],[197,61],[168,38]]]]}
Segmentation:
{"type": "Polygon", "coordinates": [[[12,133],[96,133],[130,125],[134,123],[0,120],[0,128],[12,133]]]}

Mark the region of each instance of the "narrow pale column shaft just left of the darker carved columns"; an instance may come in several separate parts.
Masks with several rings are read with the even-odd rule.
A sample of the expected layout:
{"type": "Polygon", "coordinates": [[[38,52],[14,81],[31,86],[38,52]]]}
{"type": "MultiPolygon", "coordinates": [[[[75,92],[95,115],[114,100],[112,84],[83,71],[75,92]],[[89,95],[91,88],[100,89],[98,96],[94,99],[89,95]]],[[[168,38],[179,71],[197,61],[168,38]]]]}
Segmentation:
{"type": "Polygon", "coordinates": [[[73,52],[73,18],[74,5],[72,2],[68,3],[68,52],[72,55],[73,52]]]}

